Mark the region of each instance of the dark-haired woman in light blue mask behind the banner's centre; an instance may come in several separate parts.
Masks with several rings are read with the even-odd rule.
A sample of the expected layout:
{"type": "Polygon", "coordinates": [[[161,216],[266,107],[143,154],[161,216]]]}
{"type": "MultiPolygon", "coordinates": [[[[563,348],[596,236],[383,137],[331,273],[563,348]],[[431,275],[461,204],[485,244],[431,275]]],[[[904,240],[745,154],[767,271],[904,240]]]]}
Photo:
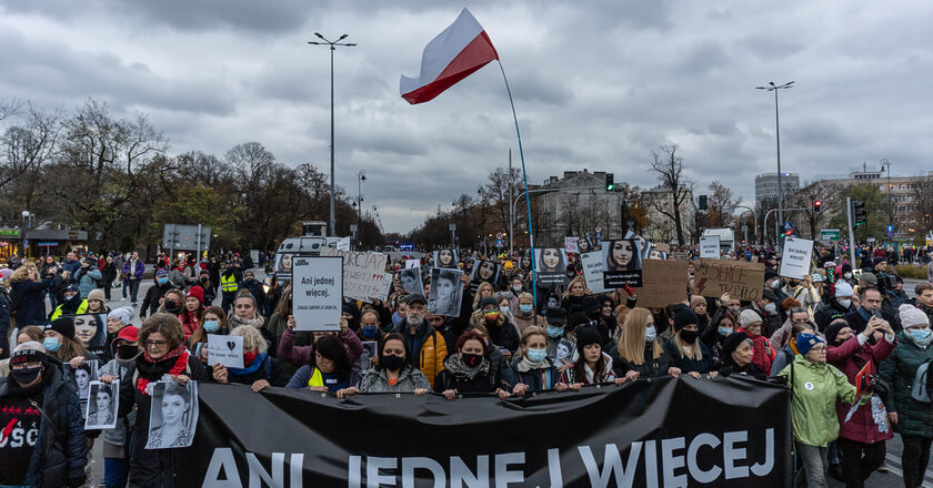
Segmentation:
{"type": "Polygon", "coordinates": [[[509,369],[502,375],[502,386],[512,395],[524,396],[545,389],[565,390],[560,373],[548,359],[548,336],[541,327],[531,326],[522,333],[521,349],[509,369]]]}

